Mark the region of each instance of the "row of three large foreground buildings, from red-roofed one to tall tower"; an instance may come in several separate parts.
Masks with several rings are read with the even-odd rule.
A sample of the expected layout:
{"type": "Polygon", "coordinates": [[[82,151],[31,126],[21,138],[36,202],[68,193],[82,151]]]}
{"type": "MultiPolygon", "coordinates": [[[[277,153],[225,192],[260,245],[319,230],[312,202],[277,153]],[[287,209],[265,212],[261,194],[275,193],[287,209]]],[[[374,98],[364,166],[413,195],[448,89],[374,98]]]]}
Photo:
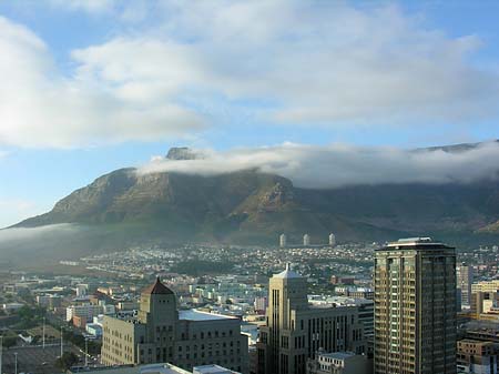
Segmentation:
{"type": "Polygon", "coordinates": [[[309,296],[307,277],[287,265],[269,280],[252,358],[238,319],[179,311],[175,294],[157,280],[142,293],[136,317],[104,317],[102,361],[183,370],[211,363],[257,374],[478,373],[470,370],[480,363],[490,370],[490,345],[457,344],[456,290],[455,249],[429,237],[378,249],[373,300],[363,303],[309,296]]]}

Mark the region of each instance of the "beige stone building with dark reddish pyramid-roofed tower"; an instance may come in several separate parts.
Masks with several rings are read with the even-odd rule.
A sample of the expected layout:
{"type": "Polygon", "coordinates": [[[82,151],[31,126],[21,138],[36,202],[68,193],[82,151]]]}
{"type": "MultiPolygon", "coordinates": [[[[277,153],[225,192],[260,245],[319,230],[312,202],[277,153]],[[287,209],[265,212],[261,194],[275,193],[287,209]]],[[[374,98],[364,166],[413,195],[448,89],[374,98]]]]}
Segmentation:
{"type": "Polygon", "coordinates": [[[101,357],[105,365],[218,364],[246,373],[248,352],[238,319],[179,311],[175,294],[156,280],[142,292],[136,317],[104,316],[101,357]]]}

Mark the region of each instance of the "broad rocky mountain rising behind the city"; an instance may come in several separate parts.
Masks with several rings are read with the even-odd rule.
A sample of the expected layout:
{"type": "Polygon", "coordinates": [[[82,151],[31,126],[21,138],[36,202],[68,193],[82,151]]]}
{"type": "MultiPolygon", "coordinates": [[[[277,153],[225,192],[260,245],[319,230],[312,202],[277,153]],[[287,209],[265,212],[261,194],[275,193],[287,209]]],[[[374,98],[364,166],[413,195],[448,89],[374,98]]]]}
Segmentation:
{"type": "MultiPolygon", "coordinates": [[[[461,152],[470,146],[475,144],[439,149],[461,152]]],[[[167,154],[172,162],[200,156],[185,148],[167,154]]],[[[499,183],[491,180],[312,190],[255,170],[201,176],[120,169],[14,228],[85,228],[82,243],[64,244],[83,251],[160,242],[275,244],[283,232],[295,243],[304,233],[313,243],[324,243],[334,232],[339,241],[434,234],[460,244],[496,240],[498,220],[499,183]]]]}

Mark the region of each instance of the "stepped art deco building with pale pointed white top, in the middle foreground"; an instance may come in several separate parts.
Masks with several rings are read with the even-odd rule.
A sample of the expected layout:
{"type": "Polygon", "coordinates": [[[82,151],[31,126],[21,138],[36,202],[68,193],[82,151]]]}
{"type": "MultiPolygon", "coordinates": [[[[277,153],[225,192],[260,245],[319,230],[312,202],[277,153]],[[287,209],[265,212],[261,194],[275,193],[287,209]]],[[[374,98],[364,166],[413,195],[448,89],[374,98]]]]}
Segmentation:
{"type": "Polygon", "coordinates": [[[324,352],[366,353],[355,306],[308,305],[307,280],[286,266],[269,281],[266,324],[259,328],[258,374],[305,374],[307,358],[324,352]]]}

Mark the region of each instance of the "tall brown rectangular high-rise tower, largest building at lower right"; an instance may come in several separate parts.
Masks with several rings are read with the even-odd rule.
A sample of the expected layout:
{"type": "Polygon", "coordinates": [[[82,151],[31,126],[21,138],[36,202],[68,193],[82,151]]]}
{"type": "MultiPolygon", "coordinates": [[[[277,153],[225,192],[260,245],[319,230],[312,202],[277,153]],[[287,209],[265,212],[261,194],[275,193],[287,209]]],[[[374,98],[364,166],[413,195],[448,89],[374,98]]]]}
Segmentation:
{"type": "Polygon", "coordinates": [[[375,253],[375,374],[456,374],[456,252],[430,237],[375,253]]]}

